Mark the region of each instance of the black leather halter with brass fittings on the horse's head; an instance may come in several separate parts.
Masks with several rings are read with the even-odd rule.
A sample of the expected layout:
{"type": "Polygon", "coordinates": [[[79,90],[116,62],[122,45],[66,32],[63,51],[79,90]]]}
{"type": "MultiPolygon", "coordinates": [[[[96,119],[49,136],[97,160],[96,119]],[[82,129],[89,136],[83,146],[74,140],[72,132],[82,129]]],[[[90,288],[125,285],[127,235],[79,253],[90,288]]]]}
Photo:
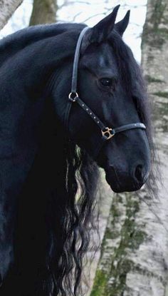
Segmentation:
{"type": "Polygon", "coordinates": [[[97,147],[95,151],[95,158],[98,156],[98,153],[100,152],[100,148],[102,148],[103,143],[105,141],[110,140],[113,136],[115,136],[116,133],[120,133],[122,131],[127,131],[134,128],[141,128],[143,130],[146,129],[146,126],[144,123],[130,123],[126,124],[125,126],[120,126],[118,128],[108,128],[102,121],[100,121],[100,118],[93,113],[93,111],[81,100],[81,98],[78,96],[77,92],[77,83],[78,83],[78,63],[80,58],[80,46],[83,40],[83,36],[85,35],[85,32],[88,31],[89,27],[85,27],[81,32],[80,36],[78,38],[78,42],[75,48],[75,56],[73,61],[73,76],[72,76],[72,85],[71,85],[71,91],[68,96],[68,106],[67,111],[65,113],[65,126],[68,129],[68,119],[70,115],[70,108],[72,106],[72,103],[78,103],[78,105],[83,108],[83,110],[88,113],[88,116],[90,116],[93,121],[99,126],[100,131],[102,133],[102,137],[100,141],[100,146],[97,147]]]}

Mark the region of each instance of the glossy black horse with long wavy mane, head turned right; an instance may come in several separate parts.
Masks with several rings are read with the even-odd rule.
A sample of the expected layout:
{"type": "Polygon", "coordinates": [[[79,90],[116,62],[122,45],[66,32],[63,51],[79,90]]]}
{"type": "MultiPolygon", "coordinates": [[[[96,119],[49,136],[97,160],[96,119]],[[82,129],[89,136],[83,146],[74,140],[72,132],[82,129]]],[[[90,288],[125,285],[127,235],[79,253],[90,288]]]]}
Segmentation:
{"type": "Polygon", "coordinates": [[[0,43],[1,295],[80,295],[93,223],[98,166],[115,192],[142,187],[152,163],[147,95],[122,41],[118,6],[86,31],[78,93],[103,123],[142,122],[105,141],[77,103],[65,116],[83,24],[33,26],[0,43]],[[76,198],[77,197],[77,198],[76,198]]]}

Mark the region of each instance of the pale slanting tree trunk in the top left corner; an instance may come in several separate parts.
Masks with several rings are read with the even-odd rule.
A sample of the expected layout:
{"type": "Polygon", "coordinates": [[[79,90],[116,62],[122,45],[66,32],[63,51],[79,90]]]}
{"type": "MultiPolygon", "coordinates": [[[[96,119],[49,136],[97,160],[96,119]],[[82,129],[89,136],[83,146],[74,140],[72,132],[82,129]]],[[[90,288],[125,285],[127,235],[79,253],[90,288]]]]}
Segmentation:
{"type": "Polygon", "coordinates": [[[0,29],[2,29],[11,15],[23,0],[0,0],[0,29]]]}

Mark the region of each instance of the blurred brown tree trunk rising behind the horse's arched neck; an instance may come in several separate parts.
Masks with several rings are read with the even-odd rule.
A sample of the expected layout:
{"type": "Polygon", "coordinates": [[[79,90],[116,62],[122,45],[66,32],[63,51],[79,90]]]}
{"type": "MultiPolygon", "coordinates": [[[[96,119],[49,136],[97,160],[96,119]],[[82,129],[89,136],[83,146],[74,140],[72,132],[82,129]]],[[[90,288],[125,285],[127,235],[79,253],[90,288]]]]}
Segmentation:
{"type": "Polygon", "coordinates": [[[30,26],[56,22],[57,0],[34,0],[30,26]]]}

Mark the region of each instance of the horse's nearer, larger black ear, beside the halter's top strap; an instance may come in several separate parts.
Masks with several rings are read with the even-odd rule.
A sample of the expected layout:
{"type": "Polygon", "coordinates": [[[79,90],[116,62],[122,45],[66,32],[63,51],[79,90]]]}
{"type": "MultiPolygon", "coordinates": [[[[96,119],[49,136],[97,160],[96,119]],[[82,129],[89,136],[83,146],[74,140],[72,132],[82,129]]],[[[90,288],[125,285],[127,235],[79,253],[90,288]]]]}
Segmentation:
{"type": "Polygon", "coordinates": [[[91,29],[90,41],[91,42],[102,42],[107,39],[107,36],[111,33],[115,26],[115,19],[117,16],[117,11],[120,5],[115,6],[112,13],[102,19],[98,24],[93,26],[91,29]]]}

